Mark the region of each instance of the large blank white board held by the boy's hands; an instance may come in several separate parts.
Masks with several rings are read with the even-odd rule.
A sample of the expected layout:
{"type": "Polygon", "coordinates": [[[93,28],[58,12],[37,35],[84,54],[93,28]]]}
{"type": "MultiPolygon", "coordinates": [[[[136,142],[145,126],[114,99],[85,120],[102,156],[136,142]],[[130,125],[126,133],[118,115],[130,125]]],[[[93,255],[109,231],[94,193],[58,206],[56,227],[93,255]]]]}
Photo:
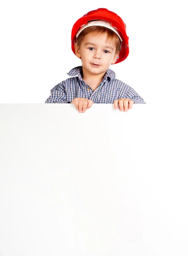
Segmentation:
{"type": "Polygon", "coordinates": [[[187,256],[180,118],[0,104],[0,256],[187,256]]]}

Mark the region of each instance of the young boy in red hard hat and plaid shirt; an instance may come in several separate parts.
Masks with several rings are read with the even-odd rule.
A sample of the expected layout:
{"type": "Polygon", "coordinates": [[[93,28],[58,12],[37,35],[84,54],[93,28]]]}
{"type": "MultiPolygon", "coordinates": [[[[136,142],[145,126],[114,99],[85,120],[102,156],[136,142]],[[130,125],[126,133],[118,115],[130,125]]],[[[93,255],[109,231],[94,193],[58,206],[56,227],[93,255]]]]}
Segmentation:
{"type": "Polygon", "coordinates": [[[114,12],[100,8],[78,19],[72,28],[72,51],[81,58],[80,67],[67,73],[74,76],[51,90],[45,103],[72,103],[84,113],[93,103],[113,103],[127,112],[134,103],[145,103],[133,88],[115,79],[110,64],[129,54],[124,21],[114,12]]]}

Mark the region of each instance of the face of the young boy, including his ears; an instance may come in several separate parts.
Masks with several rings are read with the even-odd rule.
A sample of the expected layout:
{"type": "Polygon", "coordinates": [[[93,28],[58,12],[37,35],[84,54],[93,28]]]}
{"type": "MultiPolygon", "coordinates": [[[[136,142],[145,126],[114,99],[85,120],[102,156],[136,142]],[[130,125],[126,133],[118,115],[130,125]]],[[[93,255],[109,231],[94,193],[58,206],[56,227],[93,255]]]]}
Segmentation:
{"type": "Polygon", "coordinates": [[[81,58],[83,72],[92,75],[106,73],[110,64],[116,62],[115,52],[116,45],[112,40],[107,39],[106,34],[88,34],[81,42],[80,49],[75,45],[75,53],[81,58]]]}

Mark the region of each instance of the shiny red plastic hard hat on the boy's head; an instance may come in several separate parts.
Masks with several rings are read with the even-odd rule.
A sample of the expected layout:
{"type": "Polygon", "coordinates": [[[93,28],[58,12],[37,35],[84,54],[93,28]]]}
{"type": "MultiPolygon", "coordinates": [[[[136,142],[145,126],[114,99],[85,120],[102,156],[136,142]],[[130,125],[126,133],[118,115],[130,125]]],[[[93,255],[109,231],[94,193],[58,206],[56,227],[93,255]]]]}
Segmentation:
{"type": "MultiPolygon", "coordinates": [[[[119,59],[117,59],[116,63],[119,63],[121,61],[124,61],[124,59],[127,58],[129,54],[129,38],[127,37],[126,33],[126,25],[124,21],[119,17],[115,12],[108,11],[108,9],[105,8],[99,8],[97,10],[93,10],[90,12],[87,12],[84,16],[82,16],[79,20],[77,20],[72,27],[72,33],[71,33],[71,47],[72,51],[75,54],[75,43],[76,43],[76,34],[78,30],[81,28],[81,26],[86,25],[88,21],[91,20],[104,20],[113,26],[114,29],[116,29],[121,38],[122,38],[122,45],[121,45],[121,51],[119,53],[119,59]]],[[[116,64],[115,63],[115,64],[116,64]]]]}

